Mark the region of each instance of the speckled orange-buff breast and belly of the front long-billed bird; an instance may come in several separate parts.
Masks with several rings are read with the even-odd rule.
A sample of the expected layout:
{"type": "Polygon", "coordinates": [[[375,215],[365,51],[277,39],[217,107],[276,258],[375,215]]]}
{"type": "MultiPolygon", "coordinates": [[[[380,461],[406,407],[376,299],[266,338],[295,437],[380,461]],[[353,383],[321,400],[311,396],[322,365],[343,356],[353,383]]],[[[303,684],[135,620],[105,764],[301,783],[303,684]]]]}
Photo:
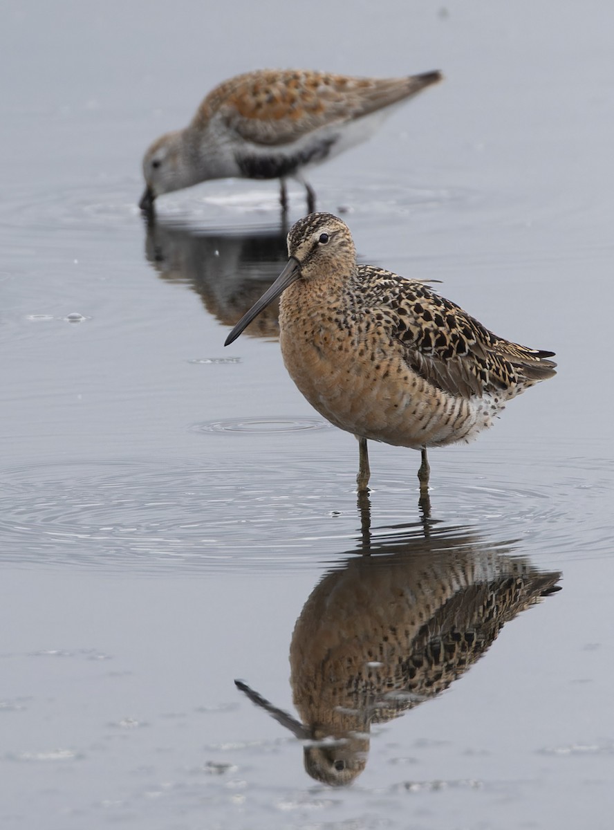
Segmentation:
{"type": "Polygon", "coordinates": [[[334,314],[324,315],[321,305],[289,300],[284,295],[280,304],[285,367],[334,426],[416,449],[470,441],[490,427],[497,411],[490,396],[443,392],[409,368],[396,340],[378,330],[367,333],[359,322],[342,325],[334,314]]]}

